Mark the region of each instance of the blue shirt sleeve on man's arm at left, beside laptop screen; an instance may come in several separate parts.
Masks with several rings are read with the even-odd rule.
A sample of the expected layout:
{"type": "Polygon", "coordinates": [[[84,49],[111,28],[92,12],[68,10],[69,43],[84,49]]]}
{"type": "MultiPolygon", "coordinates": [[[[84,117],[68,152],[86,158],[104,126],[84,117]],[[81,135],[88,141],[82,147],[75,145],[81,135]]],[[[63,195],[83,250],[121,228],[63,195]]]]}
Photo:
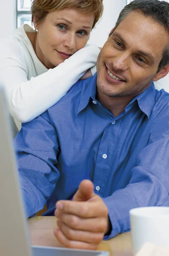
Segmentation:
{"type": "Polygon", "coordinates": [[[59,142],[48,112],[22,125],[14,140],[21,191],[27,217],[43,209],[50,198],[59,170],[59,142]]]}

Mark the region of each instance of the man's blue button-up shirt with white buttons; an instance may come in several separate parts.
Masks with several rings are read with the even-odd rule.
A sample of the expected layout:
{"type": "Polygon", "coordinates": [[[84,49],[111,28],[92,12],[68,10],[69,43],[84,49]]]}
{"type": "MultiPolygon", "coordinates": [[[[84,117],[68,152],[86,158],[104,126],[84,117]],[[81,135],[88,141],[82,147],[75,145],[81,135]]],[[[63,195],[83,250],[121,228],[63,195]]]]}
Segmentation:
{"type": "Polygon", "coordinates": [[[118,116],[96,99],[96,75],[78,81],[15,139],[27,216],[54,210],[90,179],[112,232],[130,229],[129,210],[169,206],[169,94],[152,84],[118,116]]]}

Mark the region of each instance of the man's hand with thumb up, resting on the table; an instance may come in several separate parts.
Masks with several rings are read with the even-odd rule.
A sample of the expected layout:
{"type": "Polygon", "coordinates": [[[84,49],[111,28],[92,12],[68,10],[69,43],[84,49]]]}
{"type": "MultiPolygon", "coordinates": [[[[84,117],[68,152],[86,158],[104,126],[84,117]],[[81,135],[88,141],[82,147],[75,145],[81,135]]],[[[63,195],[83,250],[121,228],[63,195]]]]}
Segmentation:
{"type": "Polygon", "coordinates": [[[108,210],[93,183],[83,180],[73,201],[58,201],[54,235],[65,247],[95,250],[108,230],[108,210]]]}

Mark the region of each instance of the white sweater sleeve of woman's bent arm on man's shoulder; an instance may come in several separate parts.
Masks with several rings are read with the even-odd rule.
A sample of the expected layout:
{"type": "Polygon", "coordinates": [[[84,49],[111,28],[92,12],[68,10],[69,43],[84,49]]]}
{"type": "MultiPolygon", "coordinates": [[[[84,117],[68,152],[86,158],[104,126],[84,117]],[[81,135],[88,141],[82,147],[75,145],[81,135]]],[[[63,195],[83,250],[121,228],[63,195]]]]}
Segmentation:
{"type": "MultiPolygon", "coordinates": [[[[2,52],[2,51],[1,51],[2,52]]],[[[87,46],[54,69],[28,81],[24,58],[0,56],[0,83],[5,87],[11,116],[29,122],[59,101],[96,64],[96,45],[87,46]],[[22,60],[22,61],[21,61],[22,60]]]]}

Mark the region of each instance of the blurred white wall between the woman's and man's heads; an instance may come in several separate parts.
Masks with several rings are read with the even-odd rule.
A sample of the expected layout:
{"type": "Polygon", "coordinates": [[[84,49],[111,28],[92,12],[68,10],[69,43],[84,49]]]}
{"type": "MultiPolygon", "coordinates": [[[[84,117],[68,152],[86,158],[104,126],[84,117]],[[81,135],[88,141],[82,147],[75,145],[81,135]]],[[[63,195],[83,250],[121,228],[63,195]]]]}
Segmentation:
{"type": "Polygon", "coordinates": [[[126,6],[127,0],[103,0],[104,3],[104,13],[101,21],[93,29],[89,44],[96,44],[102,47],[106,42],[108,35],[113,29],[115,22],[120,14],[121,10],[126,6]]]}

